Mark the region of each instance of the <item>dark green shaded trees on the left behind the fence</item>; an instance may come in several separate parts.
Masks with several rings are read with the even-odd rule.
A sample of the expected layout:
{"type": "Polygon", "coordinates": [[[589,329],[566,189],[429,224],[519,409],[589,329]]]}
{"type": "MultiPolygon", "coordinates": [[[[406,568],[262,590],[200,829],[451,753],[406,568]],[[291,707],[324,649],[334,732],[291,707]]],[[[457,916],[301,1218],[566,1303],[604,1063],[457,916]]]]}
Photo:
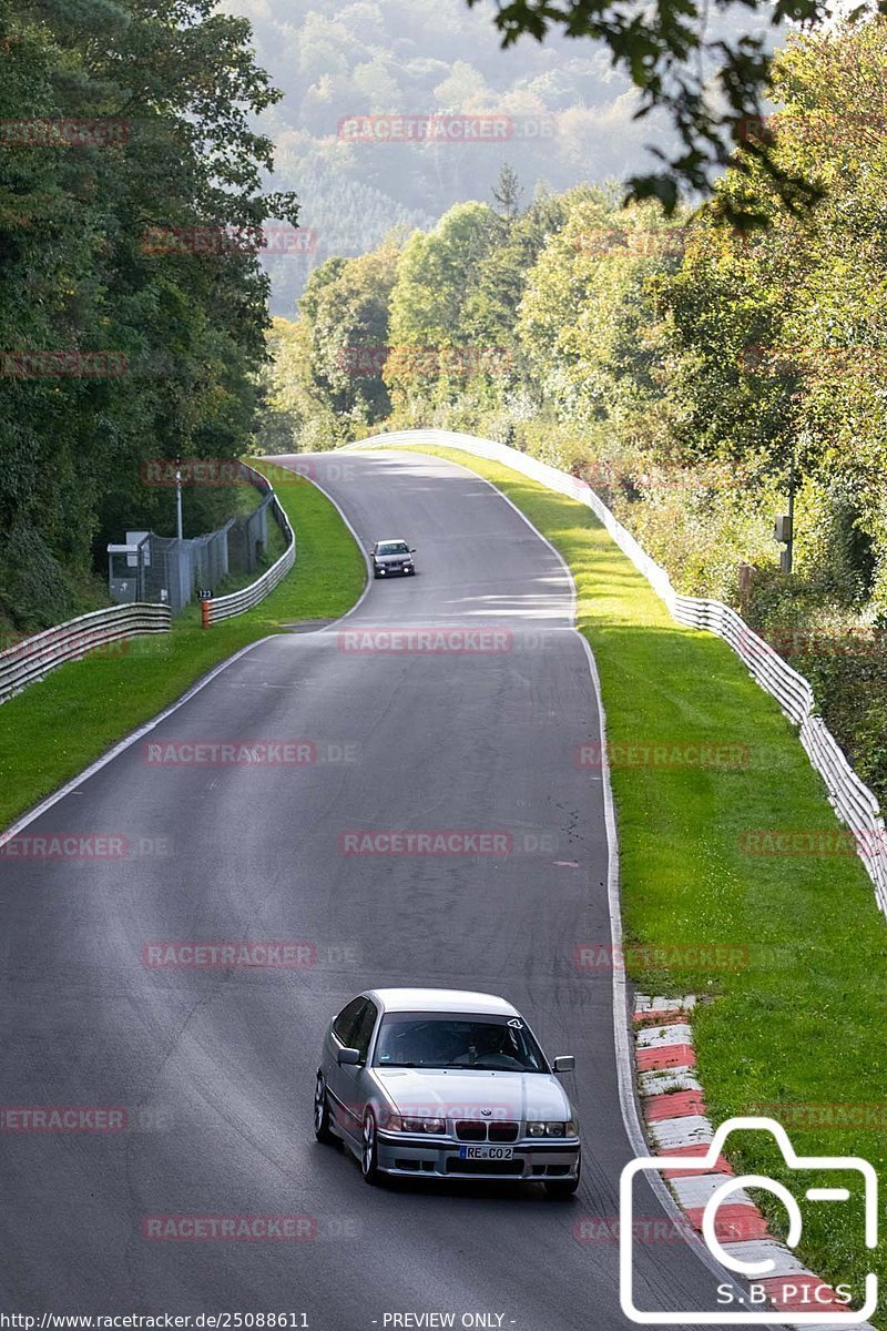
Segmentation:
{"type": "MultiPolygon", "coordinates": [[[[250,128],[279,95],[214,9],[0,0],[0,630],[101,602],[109,540],[174,531],[149,459],[250,446],[257,234],[297,210],[250,128]]],[[[186,535],[230,503],[190,490],[186,535]]]]}

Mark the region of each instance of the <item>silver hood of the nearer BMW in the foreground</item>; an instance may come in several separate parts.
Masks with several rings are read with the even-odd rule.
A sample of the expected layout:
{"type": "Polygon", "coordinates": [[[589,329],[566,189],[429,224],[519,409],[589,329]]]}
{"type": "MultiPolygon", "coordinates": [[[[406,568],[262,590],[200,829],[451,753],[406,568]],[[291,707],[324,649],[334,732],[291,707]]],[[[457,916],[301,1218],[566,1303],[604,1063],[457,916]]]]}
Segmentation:
{"type": "Polygon", "coordinates": [[[400,1114],[491,1123],[572,1117],[569,1097],[552,1073],[374,1067],[372,1074],[400,1114]],[[483,1109],[491,1113],[481,1115],[483,1109]]]}

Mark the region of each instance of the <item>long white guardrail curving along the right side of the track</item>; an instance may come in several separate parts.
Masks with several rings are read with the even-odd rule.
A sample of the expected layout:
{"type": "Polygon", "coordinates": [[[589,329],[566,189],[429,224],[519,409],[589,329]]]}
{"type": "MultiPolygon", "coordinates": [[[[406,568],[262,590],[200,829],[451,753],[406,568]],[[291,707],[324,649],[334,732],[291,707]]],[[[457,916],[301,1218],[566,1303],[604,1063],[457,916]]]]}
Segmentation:
{"type": "Polygon", "coordinates": [[[707,628],[733,647],[751,677],[775,697],[786,716],[799,725],[801,743],[810,763],[826,783],[830,803],[838,817],[852,832],[859,857],[875,885],[878,905],[887,914],[887,833],[878,800],[856,776],[822,717],[814,715],[813,688],[803,675],[794,671],[769,643],[753,632],[730,606],[703,596],[682,596],[676,592],[665,568],[650,559],[630,531],[626,531],[621,522],[613,516],[600,495],[596,495],[586,482],[570,476],[565,471],[559,471],[556,467],[549,467],[539,458],[531,458],[517,449],[509,449],[492,439],[479,439],[471,434],[456,434],[449,430],[403,430],[379,434],[347,445],[347,447],[360,449],[384,445],[404,447],[423,443],[461,449],[464,453],[475,454],[475,457],[501,462],[513,471],[520,471],[532,480],[539,480],[549,490],[570,495],[580,503],[588,504],[622,554],[644,574],[678,623],[686,624],[689,628],[707,628]]]}

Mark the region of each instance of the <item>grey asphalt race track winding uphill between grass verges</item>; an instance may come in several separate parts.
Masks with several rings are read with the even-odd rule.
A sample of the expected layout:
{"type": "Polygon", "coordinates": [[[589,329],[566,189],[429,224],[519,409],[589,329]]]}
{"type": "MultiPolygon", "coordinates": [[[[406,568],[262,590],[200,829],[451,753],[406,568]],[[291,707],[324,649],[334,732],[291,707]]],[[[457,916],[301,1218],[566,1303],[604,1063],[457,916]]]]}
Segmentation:
{"type": "MultiPolygon", "coordinates": [[[[569,580],[459,467],[383,451],[315,461],[363,544],[406,536],[418,576],[371,584],[336,626],[257,646],[21,833],[125,837],[125,857],[0,858],[1,1102],[117,1106],[126,1125],[0,1134],[0,1311],[628,1327],[617,1243],[578,1227],[616,1234],[632,1149],[610,976],[574,961],[578,944],[609,941],[609,921],[601,775],[576,761],[600,736],[569,580]],[[496,632],[443,652],[362,636],[442,627],[496,632]],[[238,740],[301,741],[310,760],[170,765],[146,748],[238,740]],[[387,829],[495,832],[508,849],[343,853],[346,833],[387,829]],[[170,940],[297,941],[311,964],[145,965],[145,946],[170,940]],[[324,1025],[362,988],[399,984],[501,993],[549,1055],[576,1054],[573,1202],[532,1185],[371,1189],[314,1141],[324,1025]],[[295,1214],[311,1236],[144,1236],[148,1217],[170,1214],[295,1214]]],[[[646,1189],[641,1206],[662,1218],[646,1189]]],[[[641,1243],[637,1272],[645,1307],[717,1306],[682,1242],[641,1243]]]]}

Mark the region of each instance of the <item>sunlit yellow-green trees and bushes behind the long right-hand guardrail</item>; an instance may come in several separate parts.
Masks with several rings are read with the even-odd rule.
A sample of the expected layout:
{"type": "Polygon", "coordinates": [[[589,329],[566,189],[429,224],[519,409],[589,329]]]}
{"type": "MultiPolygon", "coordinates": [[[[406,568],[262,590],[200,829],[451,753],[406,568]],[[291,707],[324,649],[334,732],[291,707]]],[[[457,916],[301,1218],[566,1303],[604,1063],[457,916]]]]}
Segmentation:
{"type": "Polygon", "coordinates": [[[741,604],[814,681],[883,800],[887,20],[791,39],[773,79],[755,132],[822,189],[811,210],[742,149],[672,218],[593,185],[527,198],[504,170],[431,233],[311,274],[298,319],[274,321],[265,438],[440,426],[582,476],[680,590],[741,604]],[[727,202],[766,229],[723,225],[727,202]]]}

